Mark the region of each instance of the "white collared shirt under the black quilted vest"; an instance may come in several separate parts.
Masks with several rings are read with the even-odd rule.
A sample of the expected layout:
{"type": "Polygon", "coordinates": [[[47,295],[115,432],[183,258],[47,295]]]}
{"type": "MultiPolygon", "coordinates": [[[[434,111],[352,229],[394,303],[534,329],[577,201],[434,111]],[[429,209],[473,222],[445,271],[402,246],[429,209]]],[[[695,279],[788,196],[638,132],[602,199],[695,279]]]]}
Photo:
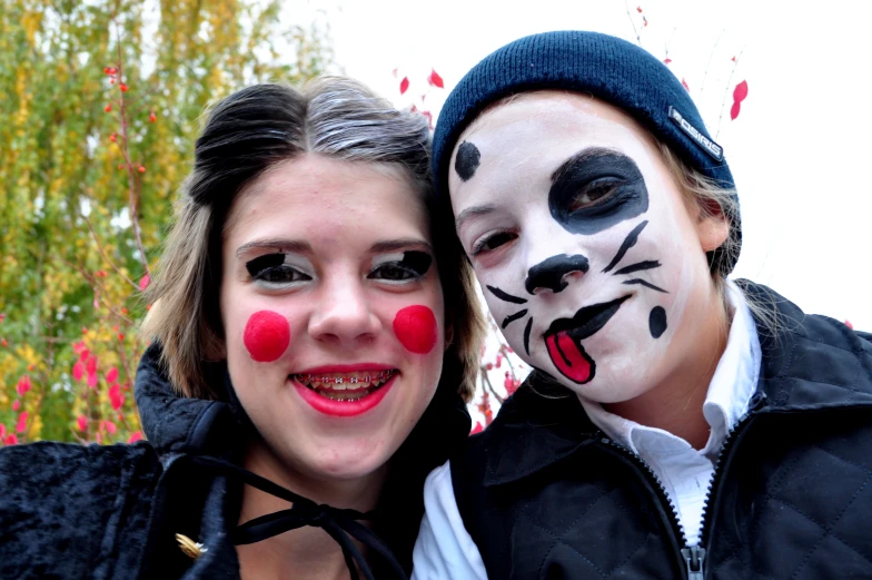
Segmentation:
{"type": "MultiPolygon", "coordinates": [[[[688,545],[700,540],[703,505],[714,461],[726,434],[747,412],[760,375],[762,354],[756,325],[745,297],[727,282],[733,322],[726,348],[708,385],[703,415],[712,427],[708,442],[695,450],[661,429],[640,425],[581,399],[591,421],[615,442],[637,453],[663,482],[678,511],[688,545]]],[[[424,520],[413,553],[413,580],[487,580],[482,554],[463,523],[452,485],[450,462],[435,469],[424,484],[424,520]]]]}

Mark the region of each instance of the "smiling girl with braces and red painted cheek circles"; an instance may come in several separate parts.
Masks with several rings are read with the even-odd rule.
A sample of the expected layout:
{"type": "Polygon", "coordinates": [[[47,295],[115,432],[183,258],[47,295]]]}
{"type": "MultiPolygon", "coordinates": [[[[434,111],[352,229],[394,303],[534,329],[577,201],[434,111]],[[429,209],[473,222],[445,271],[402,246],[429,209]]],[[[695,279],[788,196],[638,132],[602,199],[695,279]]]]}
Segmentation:
{"type": "Polygon", "coordinates": [[[149,441],[0,450],[0,577],[407,578],[483,332],[429,137],[343,78],[216,105],[149,287],[149,441]]]}

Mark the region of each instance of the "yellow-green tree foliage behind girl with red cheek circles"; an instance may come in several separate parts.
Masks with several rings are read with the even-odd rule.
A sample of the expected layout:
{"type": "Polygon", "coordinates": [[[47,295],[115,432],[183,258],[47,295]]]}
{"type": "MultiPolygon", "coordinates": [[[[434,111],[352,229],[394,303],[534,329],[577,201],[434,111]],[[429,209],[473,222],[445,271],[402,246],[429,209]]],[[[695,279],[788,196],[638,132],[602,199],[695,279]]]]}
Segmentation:
{"type": "Polygon", "coordinates": [[[3,0],[0,444],[141,436],[139,299],[207,105],[333,61],[279,2],[3,0]],[[279,52],[280,51],[280,52],[279,52]]]}

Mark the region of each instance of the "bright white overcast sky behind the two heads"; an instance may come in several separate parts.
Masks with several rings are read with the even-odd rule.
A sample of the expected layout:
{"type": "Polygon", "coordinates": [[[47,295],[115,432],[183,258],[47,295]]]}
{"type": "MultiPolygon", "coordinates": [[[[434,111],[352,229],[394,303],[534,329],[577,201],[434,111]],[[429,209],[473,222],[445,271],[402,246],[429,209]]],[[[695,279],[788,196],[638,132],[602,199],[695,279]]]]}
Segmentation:
{"type": "MultiPolygon", "coordinates": [[[[648,21],[644,48],[662,59],[668,45],[670,67],[712,134],[730,91],[716,140],[742,206],[735,276],[872,330],[872,2],[661,0],[630,9],[636,27],[643,14],[648,21]],[[749,97],[731,121],[741,80],[749,97]]],[[[296,21],[325,12],[344,71],[397,105],[425,91],[435,68],[446,90],[427,97],[434,111],[472,66],[522,36],[586,29],[635,41],[623,0],[297,0],[286,10],[296,21]],[[412,81],[404,97],[395,68],[412,81]]]]}

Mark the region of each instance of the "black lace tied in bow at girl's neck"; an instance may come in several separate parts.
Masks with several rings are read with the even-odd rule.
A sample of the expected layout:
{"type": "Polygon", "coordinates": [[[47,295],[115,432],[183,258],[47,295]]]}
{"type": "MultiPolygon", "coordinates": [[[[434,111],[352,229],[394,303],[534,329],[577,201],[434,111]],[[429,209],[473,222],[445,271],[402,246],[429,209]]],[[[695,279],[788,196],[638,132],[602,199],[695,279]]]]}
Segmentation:
{"type": "Polygon", "coordinates": [[[393,569],[395,578],[407,580],[403,567],[394,558],[390,549],[369,528],[359,523],[358,520],[370,520],[373,518],[371,511],[361,513],[356,510],[339,510],[330,505],[315,503],[228,461],[204,455],[194,456],[191,461],[225,475],[241,479],[252,488],[294,504],[290,509],[268,513],[239,525],[231,535],[234,544],[255,543],[297,528],[314,525],[329,533],[343,549],[343,557],[351,574],[351,580],[359,580],[358,568],[366,580],[375,580],[364,554],[351,541],[353,538],[382,556],[393,569]]]}

